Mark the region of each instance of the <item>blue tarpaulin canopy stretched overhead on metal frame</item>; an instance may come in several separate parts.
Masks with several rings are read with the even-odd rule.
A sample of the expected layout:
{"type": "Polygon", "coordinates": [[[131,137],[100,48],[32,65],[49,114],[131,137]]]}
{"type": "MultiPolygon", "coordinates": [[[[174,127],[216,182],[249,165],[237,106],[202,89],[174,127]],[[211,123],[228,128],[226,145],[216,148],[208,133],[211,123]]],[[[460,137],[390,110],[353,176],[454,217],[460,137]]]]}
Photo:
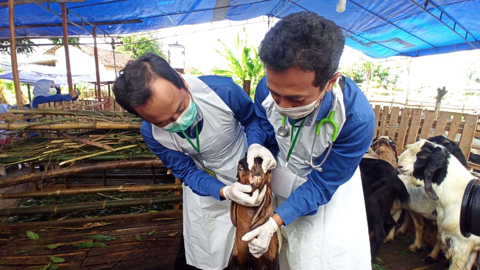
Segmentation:
{"type": "MultiPolygon", "coordinates": [[[[18,1],[18,0],[17,0],[18,1]]],[[[15,5],[15,35],[61,36],[60,5],[15,5]]],[[[20,2],[20,1],[18,1],[20,2]]],[[[27,2],[22,0],[22,2],[27,2]]],[[[0,0],[0,39],[9,37],[6,0],[0,0]]],[[[282,18],[312,11],[335,21],[349,47],[373,58],[424,56],[480,48],[480,0],[85,0],[67,3],[69,35],[90,35],[92,26],[109,35],[146,32],[218,20],[261,15],[282,18]],[[81,18],[83,19],[81,19],[81,18]],[[85,31],[86,30],[86,31],[85,31]]],[[[97,32],[103,37],[103,33],[97,32]]]]}

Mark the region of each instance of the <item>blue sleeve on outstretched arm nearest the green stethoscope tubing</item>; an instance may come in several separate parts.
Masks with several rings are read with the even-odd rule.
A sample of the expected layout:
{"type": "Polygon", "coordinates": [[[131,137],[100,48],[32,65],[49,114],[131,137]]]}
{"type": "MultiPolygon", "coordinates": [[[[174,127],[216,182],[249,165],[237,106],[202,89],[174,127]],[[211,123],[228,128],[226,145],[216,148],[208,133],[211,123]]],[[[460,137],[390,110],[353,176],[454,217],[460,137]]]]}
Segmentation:
{"type": "MultiPolygon", "coordinates": [[[[312,170],[307,181],[276,209],[275,212],[280,215],[285,225],[300,216],[316,214],[320,205],[332,199],[336,189],[355,173],[363,154],[372,142],[374,128],[373,111],[368,117],[353,121],[342,128],[333,144],[332,152],[322,166],[323,171],[320,173],[312,170]]],[[[326,151],[315,164],[320,164],[325,155],[326,151]]]]}

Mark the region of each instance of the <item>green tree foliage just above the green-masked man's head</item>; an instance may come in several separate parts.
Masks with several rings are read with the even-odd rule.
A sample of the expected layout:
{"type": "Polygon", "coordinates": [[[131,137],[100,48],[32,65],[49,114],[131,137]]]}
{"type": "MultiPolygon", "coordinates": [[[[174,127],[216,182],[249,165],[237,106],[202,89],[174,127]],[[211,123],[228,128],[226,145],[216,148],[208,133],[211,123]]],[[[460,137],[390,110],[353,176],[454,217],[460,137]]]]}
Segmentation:
{"type": "Polygon", "coordinates": [[[137,59],[149,52],[155,53],[161,56],[163,59],[167,59],[167,57],[165,56],[165,53],[162,51],[163,44],[156,40],[150,40],[150,39],[154,39],[154,36],[147,35],[142,37],[136,37],[136,36],[124,37],[122,39],[123,44],[128,44],[128,45],[120,46],[118,51],[129,55],[133,59],[137,59]],[[146,41],[146,40],[150,40],[150,41],[146,41]],[[129,43],[138,42],[138,41],[144,41],[144,42],[129,44],[129,43]]]}

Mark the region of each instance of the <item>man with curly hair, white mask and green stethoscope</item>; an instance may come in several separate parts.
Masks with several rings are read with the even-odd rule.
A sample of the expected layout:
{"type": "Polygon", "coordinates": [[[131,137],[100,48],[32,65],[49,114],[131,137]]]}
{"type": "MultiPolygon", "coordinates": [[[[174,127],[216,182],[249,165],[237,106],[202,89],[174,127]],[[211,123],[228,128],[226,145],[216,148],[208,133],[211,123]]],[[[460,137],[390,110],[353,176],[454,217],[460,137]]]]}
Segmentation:
{"type": "Polygon", "coordinates": [[[281,269],[371,269],[358,165],[375,116],[358,85],[336,72],[344,46],[340,27],[313,12],[289,14],[261,43],[265,77],[254,107],[277,160],[278,207],[243,240],[260,257],[284,225],[281,269]],[[319,125],[328,116],[337,132],[332,123],[319,125]]]}

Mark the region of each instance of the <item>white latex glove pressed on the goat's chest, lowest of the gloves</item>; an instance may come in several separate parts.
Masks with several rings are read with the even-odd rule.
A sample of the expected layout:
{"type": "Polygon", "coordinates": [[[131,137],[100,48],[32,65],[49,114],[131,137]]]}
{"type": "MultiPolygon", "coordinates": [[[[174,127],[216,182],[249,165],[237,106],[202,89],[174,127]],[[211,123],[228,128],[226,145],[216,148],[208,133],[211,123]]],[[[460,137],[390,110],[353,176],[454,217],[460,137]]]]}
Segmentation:
{"type": "Polygon", "coordinates": [[[248,241],[250,253],[252,253],[253,257],[260,258],[262,254],[267,252],[270,239],[276,230],[278,230],[278,225],[275,220],[270,217],[263,225],[243,235],[241,240],[248,241]]]}

